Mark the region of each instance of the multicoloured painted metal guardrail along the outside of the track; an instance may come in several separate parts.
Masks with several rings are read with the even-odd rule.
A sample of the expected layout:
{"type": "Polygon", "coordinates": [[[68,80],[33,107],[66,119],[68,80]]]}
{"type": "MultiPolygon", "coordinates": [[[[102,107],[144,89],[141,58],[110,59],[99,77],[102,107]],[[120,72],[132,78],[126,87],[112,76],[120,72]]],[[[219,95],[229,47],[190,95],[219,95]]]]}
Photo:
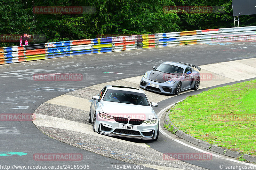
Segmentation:
{"type": "Polygon", "coordinates": [[[256,39],[256,26],[47,42],[0,48],[0,64],[47,58],[256,39]]]}

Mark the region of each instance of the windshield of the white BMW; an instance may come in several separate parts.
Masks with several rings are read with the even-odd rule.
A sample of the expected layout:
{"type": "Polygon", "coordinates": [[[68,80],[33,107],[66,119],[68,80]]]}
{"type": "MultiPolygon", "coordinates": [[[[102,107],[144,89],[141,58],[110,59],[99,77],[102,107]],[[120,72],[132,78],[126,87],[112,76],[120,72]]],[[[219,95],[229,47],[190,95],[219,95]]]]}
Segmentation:
{"type": "Polygon", "coordinates": [[[108,89],[103,98],[104,101],[128,103],[134,105],[149,106],[146,95],[143,93],[129,92],[123,90],[108,89]]]}

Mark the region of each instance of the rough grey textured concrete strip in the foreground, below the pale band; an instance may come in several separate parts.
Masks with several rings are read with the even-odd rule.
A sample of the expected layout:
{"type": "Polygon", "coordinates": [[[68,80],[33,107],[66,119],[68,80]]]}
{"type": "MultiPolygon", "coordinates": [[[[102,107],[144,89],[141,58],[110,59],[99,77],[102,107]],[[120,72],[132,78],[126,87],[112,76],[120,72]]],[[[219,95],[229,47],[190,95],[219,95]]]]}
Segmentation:
{"type": "Polygon", "coordinates": [[[163,153],[160,153],[150,147],[139,147],[131,144],[124,145],[122,142],[115,142],[113,144],[112,140],[104,137],[95,137],[70,130],[43,126],[37,126],[37,128],[48,136],[61,142],[133,164],[150,164],[192,170],[204,169],[180,160],[164,160],[163,153]]]}

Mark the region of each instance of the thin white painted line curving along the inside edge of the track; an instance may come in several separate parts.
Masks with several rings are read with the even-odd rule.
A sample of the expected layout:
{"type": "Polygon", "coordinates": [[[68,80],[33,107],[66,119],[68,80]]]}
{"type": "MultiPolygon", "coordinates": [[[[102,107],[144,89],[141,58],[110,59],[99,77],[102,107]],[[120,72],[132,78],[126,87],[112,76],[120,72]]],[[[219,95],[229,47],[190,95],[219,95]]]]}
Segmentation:
{"type": "MultiPolygon", "coordinates": [[[[182,101],[182,100],[180,100],[180,101],[182,101]]],[[[180,102],[180,101],[178,101],[178,102],[180,102]]],[[[157,116],[159,117],[159,120],[161,119],[161,117],[162,117],[162,115],[163,115],[163,113],[164,113],[165,110],[167,110],[168,108],[172,107],[173,105],[175,105],[175,104],[178,103],[178,102],[175,102],[174,104],[171,104],[171,105],[165,107],[164,109],[162,109],[160,112],[158,112],[158,113],[157,113],[157,116]]],[[[169,135],[164,131],[164,129],[162,129],[161,126],[160,126],[159,131],[160,131],[160,133],[162,133],[165,137],[168,137],[169,139],[171,139],[171,140],[173,140],[173,141],[175,141],[175,142],[178,142],[179,144],[182,144],[182,145],[184,145],[184,146],[187,146],[187,147],[189,147],[189,148],[192,148],[192,149],[194,149],[194,150],[196,150],[196,151],[199,151],[199,152],[202,152],[202,153],[206,153],[206,154],[209,154],[209,153],[210,153],[210,152],[204,151],[204,150],[202,150],[202,149],[199,149],[199,148],[197,148],[197,147],[191,146],[191,145],[189,145],[189,144],[185,144],[184,142],[182,142],[182,141],[180,141],[180,140],[178,140],[178,139],[175,139],[175,138],[169,136],[169,135]]],[[[217,154],[214,154],[214,153],[211,153],[211,155],[214,156],[214,157],[216,157],[216,158],[225,159],[225,160],[232,161],[232,162],[236,162],[236,163],[239,163],[239,164],[244,164],[244,165],[249,165],[249,166],[254,166],[254,167],[256,167],[256,165],[254,165],[254,164],[249,164],[249,163],[241,162],[241,161],[234,160],[234,159],[230,159],[230,158],[225,158],[225,157],[223,157],[223,156],[220,156],[220,155],[217,155],[217,154]]]]}

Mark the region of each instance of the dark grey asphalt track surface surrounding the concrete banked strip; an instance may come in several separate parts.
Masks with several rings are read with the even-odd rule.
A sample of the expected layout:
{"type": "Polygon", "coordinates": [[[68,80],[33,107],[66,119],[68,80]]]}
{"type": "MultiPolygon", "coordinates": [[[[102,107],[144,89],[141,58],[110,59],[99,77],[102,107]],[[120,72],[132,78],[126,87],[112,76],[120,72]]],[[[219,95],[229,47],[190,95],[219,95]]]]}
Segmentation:
{"type": "MultiPolygon", "coordinates": [[[[151,70],[152,66],[159,65],[164,61],[182,61],[196,65],[206,65],[211,63],[255,58],[255,46],[255,41],[218,42],[211,44],[151,48],[95,55],[80,55],[76,57],[64,57],[1,65],[1,114],[32,115],[37,107],[52,98],[92,85],[140,76],[143,75],[145,71],[151,70]],[[79,73],[83,74],[83,80],[33,80],[34,74],[41,73],[79,73]]],[[[201,90],[190,93],[200,91],[201,90]]],[[[156,108],[156,112],[159,112],[172,102],[179,101],[185,95],[186,93],[159,102],[159,107],[156,108]]],[[[79,121],[83,122],[87,121],[87,119],[79,121]]],[[[163,122],[161,122],[161,124],[163,124],[163,122]]],[[[24,156],[8,156],[8,154],[1,156],[2,166],[8,165],[12,167],[13,165],[50,165],[56,167],[58,165],[89,165],[90,169],[113,169],[114,165],[132,165],[132,167],[135,165],[121,160],[108,158],[100,154],[57,141],[42,133],[35,127],[32,121],[0,121],[0,134],[0,156],[1,152],[27,153],[24,156]],[[69,159],[65,161],[42,161],[36,160],[35,157],[33,158],[33,155],[37,153],[80,153],[83,155],[83,160],[69,159]]],[[[176,138],[175,135],[170,136],[176,138]]],[[[128,142],[129,141],[130,140],[128,140],[128,142]]],[[[143,142],[139,141],[138,143],[143,144],[143,142]]],[[[159,151],[160,154],[197,152],[193,148],[185,147],[179,143],[173,142],[170,138],[164,136],[163,134],[159,135],[159,139],[156,142],[148,142],[147,144],[151,147],[151,149],[159,151]]],[[[104,147],[104,141],[100,143],[100,146],[104,147]]],[[[125,147],[125,145],[123,147],[125,147]]],[[[150,154],[150,152],[148,154],[150,154]]],[[[148,161],[150,162],[150,160],[148,161]]],[[[143,165],[138,167],[138,162],[134,163],[136,163],[134,169],[144,169],[143,165]]],[[[199,169],[199,167],[192,165],[190,166],[187,163],[206,169],[220,169],[220,165],[244,165],[242,163],[236,163],[227,159],[214,157],[211,161],[207,162],[174,162],[172,167],[181,169],[199,169]]],[[[125,166],[122,167],[125,169],[125,166]]],[[[157,168],[159,169],[160,167],[161,165],[158,165],[157,168]]],[[[0,167],[0,169],[4,168],[0,167]]],[[[145,167],[145,169],[150,168],[145,167]]]]}

